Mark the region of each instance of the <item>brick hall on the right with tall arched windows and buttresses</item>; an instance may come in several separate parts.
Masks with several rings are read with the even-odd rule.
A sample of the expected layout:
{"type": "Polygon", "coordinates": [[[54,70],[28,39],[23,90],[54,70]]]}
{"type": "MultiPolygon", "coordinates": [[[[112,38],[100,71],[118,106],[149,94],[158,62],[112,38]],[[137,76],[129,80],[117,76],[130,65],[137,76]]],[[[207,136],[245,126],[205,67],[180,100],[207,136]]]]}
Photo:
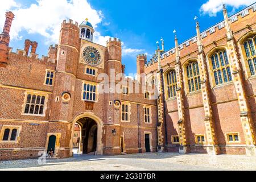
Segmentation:
{"type": "Polygon", "coordinates": [[[148,82],[160,80],[165,93],[158,101],[165,150],[256,154],[256,4],[230,17],[223,11],[222,22],[203,32],[197,22],[195,37],[175,38],[175,48],[158,49],[146,64],[148,82]]]}

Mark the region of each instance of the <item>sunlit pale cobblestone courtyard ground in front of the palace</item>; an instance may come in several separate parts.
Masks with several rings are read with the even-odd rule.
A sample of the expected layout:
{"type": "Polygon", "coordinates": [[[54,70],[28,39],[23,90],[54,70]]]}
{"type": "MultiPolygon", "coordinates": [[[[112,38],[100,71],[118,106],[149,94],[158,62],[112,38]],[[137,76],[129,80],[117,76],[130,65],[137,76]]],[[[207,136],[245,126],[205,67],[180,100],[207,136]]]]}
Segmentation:
{"type": "Polygon", "coordinates": [[[147,170],[256,170],[256,157],[176,153],[150,153],[121,156],[75,155],[68,159],[37,159],[0,162],[0,170],[69,171],[147,171],[147,170]]]}

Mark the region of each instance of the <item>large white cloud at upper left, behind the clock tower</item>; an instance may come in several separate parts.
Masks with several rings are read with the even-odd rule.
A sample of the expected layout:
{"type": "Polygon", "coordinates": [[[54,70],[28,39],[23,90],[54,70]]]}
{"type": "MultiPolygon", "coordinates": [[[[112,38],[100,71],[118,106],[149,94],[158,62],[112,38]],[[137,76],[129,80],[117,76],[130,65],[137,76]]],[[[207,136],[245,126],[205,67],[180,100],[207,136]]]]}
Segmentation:
{"type": "MultiPolygon", "coordinates": [[[[11,38],[20,39],[20,32],[26,30],[28,34],[40,34],[46,38],[46,44],[57,43],[59,40],[60,26],[64,19],[73,19],[81,23],[88,18],[94,29],[102,21],[101,11],[94,10],[86,0],[37,0],[29,7],[18,6],[15,0],[8,0],[0,7],[0,22],[5,22],[5,11],[12,10],[15,19],[11,27],[11,38]]],[[[102,37],[100,32],[95,33],[96,43],[103,43],[107,37],[102,37]],[[98,41],[98,42],[97,42],[98,41]]]]}

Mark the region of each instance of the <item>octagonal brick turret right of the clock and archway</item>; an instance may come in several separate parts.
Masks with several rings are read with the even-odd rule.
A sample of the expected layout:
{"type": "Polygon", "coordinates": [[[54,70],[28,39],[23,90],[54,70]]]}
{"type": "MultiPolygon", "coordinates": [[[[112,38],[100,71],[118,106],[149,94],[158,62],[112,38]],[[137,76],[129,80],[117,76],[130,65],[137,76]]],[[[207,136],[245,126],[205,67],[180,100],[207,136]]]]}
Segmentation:
{"type": "Polygon", "coordinates": [[[111,140],[106,141],[106,146],[110,146],[106,148],[106,154],[121,154],[121,150],[116,148],[116,146],[120,145],[120,137],[121,137],[121,111],[122,106],[122,85],[119,84],[121,80],[119,78],[115,79],[117,73],[122,73],[122,48],[121,48],[121,40],[117,40],[117,38],[109,39],[107,42],[107,60],[106,60],[106,73],[109,76],[109,84],[108,90],[109,93],[105,95],[106,107],[108,110],[105,114],[106,123],[109,126],[106,126],[106,137],[109,137],[109,134],[112,134],[115,131],[117,137],[113,137],[111,140]],[[119,90],[117,89],[119,88],[119,90]],[[109,104],[112,102],[112,104],[109,104]],[[119,105],[119,106],[118,106],[119,105]]]}

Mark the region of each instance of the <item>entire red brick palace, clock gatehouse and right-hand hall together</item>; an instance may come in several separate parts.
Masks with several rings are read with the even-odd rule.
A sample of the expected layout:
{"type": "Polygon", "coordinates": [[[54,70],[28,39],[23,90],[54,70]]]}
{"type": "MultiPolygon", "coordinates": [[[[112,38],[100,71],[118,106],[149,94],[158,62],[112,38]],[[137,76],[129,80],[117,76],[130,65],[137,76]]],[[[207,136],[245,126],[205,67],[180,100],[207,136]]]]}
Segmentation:
{"type": "Polygon", "coordinates": [[[228,17],[224,8],[224,21],[204,32],[197,22],[197,36],[181,44],[175,38],[175,48],[158,48],[148,63],[138,55],[137,73],[146,73],[146,81],[104,80],[124,73],[121,41],[93,43],[88,20],[64,20],[59,45],[41,59],[30,40],[13,52],[14,14],[7,12],[0,34],[0,159],[36,158],[49,148],[72,156],[76,124],[84,154],[255,155],[255,10],[254,3],[228,17]]]}

